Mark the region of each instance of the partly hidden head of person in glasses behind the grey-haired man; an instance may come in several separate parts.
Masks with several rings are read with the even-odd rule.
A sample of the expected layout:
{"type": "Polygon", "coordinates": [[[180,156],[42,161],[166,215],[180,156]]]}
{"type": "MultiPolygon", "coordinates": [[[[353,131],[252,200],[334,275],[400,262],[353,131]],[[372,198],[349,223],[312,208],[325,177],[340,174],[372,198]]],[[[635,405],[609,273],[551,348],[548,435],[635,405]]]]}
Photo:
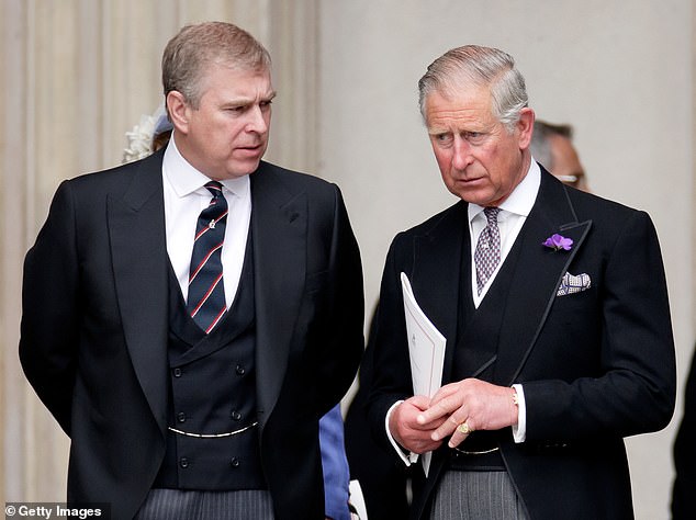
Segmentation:
{"type": "Polygon", "coordinates": [[[573,146],[573,127],[535,121],[531,156],[564,184],[590,191],[587,176],[573,146]]]}

